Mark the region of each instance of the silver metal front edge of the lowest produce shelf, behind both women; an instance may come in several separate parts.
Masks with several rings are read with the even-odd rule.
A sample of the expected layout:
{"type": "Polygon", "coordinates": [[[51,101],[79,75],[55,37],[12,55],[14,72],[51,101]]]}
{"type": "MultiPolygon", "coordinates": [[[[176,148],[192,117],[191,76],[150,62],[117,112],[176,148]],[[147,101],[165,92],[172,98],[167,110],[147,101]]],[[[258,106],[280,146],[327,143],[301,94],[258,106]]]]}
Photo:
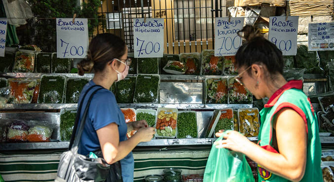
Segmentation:
{"type": "MultiPolygon", "coordinates": [[[[250,141],[258,141],[258,137],[248,137],[250,141]]],[[[212,145],[217,138],[205,139],[155,139],[150,142],[142,142],[138,146],[196,146],[212,145]]],[[[334,137],[320,137],[322,144],[333,144],[334,137]]],[[[30,150],[30,149],[66,149],[69,142],[44,142],[44,143],[3,143],[0,150],[30,150]]]]}

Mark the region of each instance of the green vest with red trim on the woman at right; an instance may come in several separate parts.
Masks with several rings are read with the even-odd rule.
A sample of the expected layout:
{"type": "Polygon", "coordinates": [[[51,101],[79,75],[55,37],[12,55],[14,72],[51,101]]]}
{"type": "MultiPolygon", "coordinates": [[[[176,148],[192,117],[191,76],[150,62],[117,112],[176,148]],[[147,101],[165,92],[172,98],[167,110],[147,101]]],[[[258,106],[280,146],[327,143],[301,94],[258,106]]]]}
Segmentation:
{"type": "MultiPolygon", "coordinates": [[[[282,91],[282,90],[281,90],[282,91]]],[[[282,108],[292,108],[302,116],[307,129],[307,156],[305,174],[300,182],[323,182],[321,163],[321,143],[319,138],[318,119],[307,96],[299,89],[283,90],[272,102],[260,111],[259,145],[269,151],[272,147],[272,123],[275,114],[282,108]]],[[[293,121],[291,121],[293,122],[293,121]]],[[[258,166],[259,182],[290,182],[258,166]]]]}

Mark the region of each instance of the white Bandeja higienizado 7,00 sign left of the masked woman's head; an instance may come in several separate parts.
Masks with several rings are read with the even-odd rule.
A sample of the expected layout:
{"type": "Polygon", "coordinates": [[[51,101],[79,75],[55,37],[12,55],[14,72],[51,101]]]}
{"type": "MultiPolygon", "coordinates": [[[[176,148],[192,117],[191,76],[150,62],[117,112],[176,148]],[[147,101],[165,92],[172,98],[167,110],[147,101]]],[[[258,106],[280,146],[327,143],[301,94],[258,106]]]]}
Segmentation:
{"type": "Polygon", "coordinates": [[[57,58],[85,58],[88,47],[86,18],[57,18],[57,58]]]}

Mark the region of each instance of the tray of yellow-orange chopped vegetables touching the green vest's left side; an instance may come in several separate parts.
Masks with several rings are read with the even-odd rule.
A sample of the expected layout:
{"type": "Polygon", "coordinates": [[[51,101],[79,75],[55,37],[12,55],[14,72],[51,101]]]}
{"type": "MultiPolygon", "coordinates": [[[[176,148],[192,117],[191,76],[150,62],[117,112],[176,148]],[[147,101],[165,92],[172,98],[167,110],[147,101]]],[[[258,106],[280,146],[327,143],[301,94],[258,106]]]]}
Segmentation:
{"type": "Polygon", "coordinates": [[[257,108],[238,109],[239,131],[245,137],[257,137],[259,135],[260,120],[257,108]]]}

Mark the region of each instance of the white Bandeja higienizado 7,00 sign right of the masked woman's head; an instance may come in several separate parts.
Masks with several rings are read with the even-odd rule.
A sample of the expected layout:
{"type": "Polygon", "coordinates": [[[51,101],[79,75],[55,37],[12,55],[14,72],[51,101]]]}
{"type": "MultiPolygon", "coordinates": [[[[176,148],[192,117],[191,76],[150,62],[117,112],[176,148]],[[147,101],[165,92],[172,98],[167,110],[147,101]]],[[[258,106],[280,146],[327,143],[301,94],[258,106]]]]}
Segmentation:
{"type": "Polygon", "coordinates": [[[164,21],[162,18],[135,18],[133,20],[135,58],[163,56],[164,21]]]}

